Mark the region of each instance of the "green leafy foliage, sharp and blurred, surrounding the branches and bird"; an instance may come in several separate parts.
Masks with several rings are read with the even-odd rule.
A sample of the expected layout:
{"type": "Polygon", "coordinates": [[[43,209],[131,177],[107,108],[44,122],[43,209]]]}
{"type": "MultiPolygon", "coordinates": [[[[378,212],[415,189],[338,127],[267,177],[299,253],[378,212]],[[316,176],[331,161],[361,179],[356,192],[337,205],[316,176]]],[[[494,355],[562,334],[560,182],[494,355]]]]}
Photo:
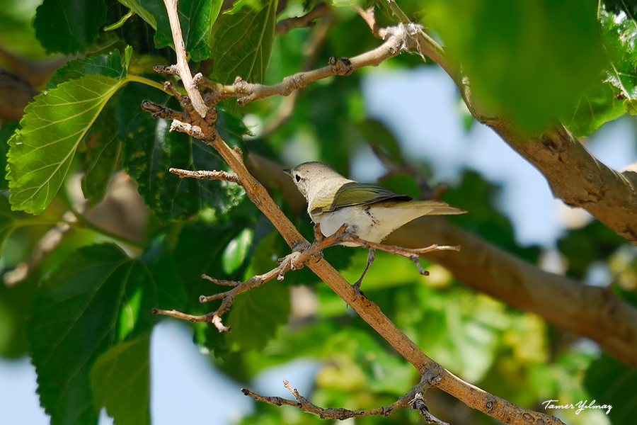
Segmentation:
{"type": "MultiPolygon", "coordinates": [[[[276,84],[323,66],[331,56],[350,57],[379,45],[352,4],[376,6],[381,26],[397,22],[385,2],[334,1],[316,26],[275,35],[276,21],[302,15],[315,3],[181,0],[191,67],[223,83],[239,75],[276,84]]],[[[139,108],[144,99],[178,108],[161,90],[161,81],[171,77],[152,71],[153,65],[175,62],[161,1],[4,0],[3,6],[0,64],[16,74],[40,69],[48,77],[36,87],[42,93],[23,120],[0,127],[1,168],[8,169],[0,185],[0,355],[32,358],[38,395],[53,424],[94,424],[101,407],[116,424],[147,424],[149,336],[159,320],[151,307],[209,312],[218,302],[202,305],[199,296],[226,288],[202,280],[202,273],[245,280],[273,268],[289,247],[241,188],[168,172],[171,166],[226,165],[210,147],[169,132],[166,121],[139,108]],[[122,25],[103,30],[114,23],[122,25]],[[63,66],[49,62],[62,55],[74,56],[63,66]],[[137,191],[122,195],[117,185],[122,176],[137,191]],[[119,401],[129,394],[132,401],[119,401]]],[[[636,111],[637,11],[630,3],[406,0],[399,6],[442,40],[469,77],[481,108],[522,130],[561,122],[577,135],[589,135],[636,111]]],[[[431,64],[403,54],[386,66],[431,64]]],[[[219,133],[246,156],[259,154],[282,165],[321,160],[343,174],[369,145],[391,171],[399,171],[384,186],[422,196],[432,164],[415,163],[384,123],[367,117],[360,89],[365,72],[317,81],[296,98],[275,96],[243,108],[225,101],[219,133]]],[[[293,211],[279,188],[270,189],[311,239],[305,212],[293,211]]],[[[463,171],[444,199],[471,214],[449,220],[539,263],[541,248],[517,243],[510,220],[495,205],[498,194],[477,172],[463,171]]],[[[612,283],[609,290],[637,305],[637,253],[624,239],[592,222],[565,232],[557,249],[569,276],[587,280],[602,269],[612,283]]],[[[350,282],[367,259],[365,250],[343,246],[324,254],[350,282]]],[[[560,404],[597,399],[614,406],[608,416],[592,409],[550,412],[570,424],[629,423],[634,368],[600,356],[575,337],[565,343],[558,329],[534,314],[474,293],[440,266],[423,265],[430,276],[415,273],[406,259],[379,253],[363,289],[427,355],[524,407],[541,409],[549,399],[560,404]]],[[[389,404],[418,382],[413,367],[308,268],[242,293],[224,321],[231,333],[193,325],[195,343],[210,352],[211,365],[239,382],[249,384],[272,366],[309,358],[319,372],[305,396],[323,407],[348,409],[389,404]]],[[[457,404],[435,394],[432,399],[440,403],[430,409],[436,416],[493,423],[476,412],[458,419],[457,404]]],[[[323,421],[292,407],[256,404],[242,423],[323,421]]],[[[421,419],[401,409],[389,418],[356,423],[421,419]]]]}

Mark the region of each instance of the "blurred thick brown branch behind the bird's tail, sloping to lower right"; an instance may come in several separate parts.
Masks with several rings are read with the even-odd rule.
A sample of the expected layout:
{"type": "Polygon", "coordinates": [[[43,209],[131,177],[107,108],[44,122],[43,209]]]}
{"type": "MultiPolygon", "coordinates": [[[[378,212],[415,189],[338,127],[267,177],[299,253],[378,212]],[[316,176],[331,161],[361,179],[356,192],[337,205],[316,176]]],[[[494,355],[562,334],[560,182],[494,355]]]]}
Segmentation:
{"type": "Polygon", "coordinates": [[[441,240],[462,249],[452,255],[432,253],[425,257],[466,285],[507,305],[539,314],[561,329],[587,336],[611,356],[637,365],[637,310],[606,288],[541,270],[441,217],[415,220],[387,239],[401,246],[441,240]]]}

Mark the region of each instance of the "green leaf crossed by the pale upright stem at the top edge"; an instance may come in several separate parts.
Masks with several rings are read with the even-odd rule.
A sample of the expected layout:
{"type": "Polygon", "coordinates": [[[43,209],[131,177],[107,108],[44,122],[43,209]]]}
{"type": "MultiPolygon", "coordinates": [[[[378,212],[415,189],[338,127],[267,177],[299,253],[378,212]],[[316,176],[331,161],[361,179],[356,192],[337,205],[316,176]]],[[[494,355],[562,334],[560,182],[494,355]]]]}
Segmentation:
{"type": "MultiPolygon", "coordinates": [[[[163,2],[157,0],[120,0],[135,11],[156,30],[157,48],[173,46],[173,35],[168,22],[168,13],[163,2]]],[[[180,0],[178,4],[179,23],[185,50],[195,62],[210,57],[209,34],[217,20],[223,4],[222,0],[180,0]]]]}

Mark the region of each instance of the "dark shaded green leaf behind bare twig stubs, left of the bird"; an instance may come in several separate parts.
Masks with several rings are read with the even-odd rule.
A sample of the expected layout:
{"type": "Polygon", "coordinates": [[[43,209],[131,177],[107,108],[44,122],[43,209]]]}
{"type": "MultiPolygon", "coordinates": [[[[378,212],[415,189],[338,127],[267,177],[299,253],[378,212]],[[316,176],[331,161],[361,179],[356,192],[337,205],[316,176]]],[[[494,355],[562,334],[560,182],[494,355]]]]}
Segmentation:
{"type": "Polygon", "coordinates": [[[117,104],[119,133],[124,136],[124,167],[137,190],[162,222],[195,217],[204,206],[225,214],[243,199],[243,190],[226,181],[180,179],[178,169],[225,169],[212,147],[180,132],[170,132],[166,120],[157,120],[139,108],[150,98],[166,104],[173,99],[147,86],[126,87],[117,104]]]}

